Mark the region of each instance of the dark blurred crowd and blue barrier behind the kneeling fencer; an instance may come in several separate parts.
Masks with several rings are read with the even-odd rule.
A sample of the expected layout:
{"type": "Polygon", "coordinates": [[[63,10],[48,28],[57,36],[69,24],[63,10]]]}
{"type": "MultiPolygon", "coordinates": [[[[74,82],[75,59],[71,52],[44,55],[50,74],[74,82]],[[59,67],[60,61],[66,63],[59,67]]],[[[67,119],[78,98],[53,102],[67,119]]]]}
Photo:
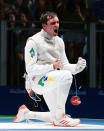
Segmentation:
{"type": "MultiPolygon", "coordinates": [[[[0,115],[15,115],[21,104],[30,110],[48,111],[42,101],[35,107],[25,90],[24,46],[29,36],[41,30],[43,11],[60,19],[59,36],[65,42],[70,63],[87,60],[76,75],[82,103],[70,102],[76,95],[73,81],[66,112],[73,117],[104,118],[104,0],[0,0],[0,115]]],[[[36,104],[36,103],[35,103],[36,104]]]]}

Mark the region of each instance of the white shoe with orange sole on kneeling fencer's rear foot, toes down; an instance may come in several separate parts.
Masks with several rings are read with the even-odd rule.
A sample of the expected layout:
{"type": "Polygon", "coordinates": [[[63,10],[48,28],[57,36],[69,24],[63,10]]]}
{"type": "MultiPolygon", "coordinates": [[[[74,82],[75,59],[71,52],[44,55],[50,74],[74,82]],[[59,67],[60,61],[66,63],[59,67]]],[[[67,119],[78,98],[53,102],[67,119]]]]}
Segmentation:
{"type": "Polygon", "coordinates": [[[27,109],[27,107],[25,105],[22,105],[19,109],[18,109],[18,113],[16,115],[16,117],[13,120],[13,123],[15,122],[21,122],[23,120],[25,120],[25,114],[29,112],[29,110],[27,109]]]}

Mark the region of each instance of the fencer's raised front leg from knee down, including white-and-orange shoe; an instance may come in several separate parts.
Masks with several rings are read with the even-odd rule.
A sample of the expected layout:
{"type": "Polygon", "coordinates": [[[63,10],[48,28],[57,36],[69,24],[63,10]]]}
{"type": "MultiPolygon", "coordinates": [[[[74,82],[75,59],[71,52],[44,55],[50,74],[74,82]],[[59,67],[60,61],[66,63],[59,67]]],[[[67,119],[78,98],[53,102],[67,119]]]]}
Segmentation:
{"type": "Polygon", "coordinates": [[[68,127],[78,125],[80,123],[79,119],[72,119],[65,113],[65,104],[72,84],[71,73],[68,71],[55,71],[49,73],[48,77],[52,77],[55,84],[50,83],[46,86],[47,91],[43,93],[43,97],[49,107],[53,125],[68,127]]]}

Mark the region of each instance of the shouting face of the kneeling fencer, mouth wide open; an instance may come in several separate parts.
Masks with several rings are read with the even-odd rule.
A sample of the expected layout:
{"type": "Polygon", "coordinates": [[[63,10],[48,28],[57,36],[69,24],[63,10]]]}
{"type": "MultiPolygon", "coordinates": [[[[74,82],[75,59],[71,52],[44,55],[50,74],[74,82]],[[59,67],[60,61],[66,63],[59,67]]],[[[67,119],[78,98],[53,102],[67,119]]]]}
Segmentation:
{"type": "Polygon", "coordinates": [[[57,16],[49,19],[47,24],[44,25],[44,30],[51,36],[57,36],[59,29],[59,19],[57,16]]]}

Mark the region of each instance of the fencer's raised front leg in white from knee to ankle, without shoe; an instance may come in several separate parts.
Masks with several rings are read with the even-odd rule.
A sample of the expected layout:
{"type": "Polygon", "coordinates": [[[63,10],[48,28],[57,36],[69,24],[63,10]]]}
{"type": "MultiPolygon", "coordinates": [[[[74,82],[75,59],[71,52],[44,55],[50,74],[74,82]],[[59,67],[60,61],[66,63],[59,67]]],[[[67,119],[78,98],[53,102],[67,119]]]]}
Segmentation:
{"type": "Polygon", "coordinates": [[[65,115],[65,104],[72,84],[72,75],[68,71],[55,71],[47,75],[54,79],[54,84],[52,82],[47,84],[43,97],[52,114],[52,119],[61,119],[65,115]]]}

